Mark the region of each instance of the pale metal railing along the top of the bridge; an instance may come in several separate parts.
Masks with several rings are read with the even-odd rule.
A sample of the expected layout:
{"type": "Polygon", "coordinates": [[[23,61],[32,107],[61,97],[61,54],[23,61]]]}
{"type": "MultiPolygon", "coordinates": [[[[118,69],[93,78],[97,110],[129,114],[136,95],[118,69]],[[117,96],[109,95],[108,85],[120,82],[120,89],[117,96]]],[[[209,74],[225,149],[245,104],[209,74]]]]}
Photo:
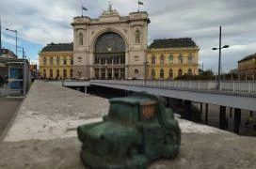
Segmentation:
{"type": "MultiPolygon", "coordinates": [[[[166,81],[166,80],[90,80],[95,83],[133,84],[154,87],[183,88],[191,90],[218,90],[216,81],[166,81]]],[[[220,90],[256,94],[255,81],[222,81],[220,90]]]]}

